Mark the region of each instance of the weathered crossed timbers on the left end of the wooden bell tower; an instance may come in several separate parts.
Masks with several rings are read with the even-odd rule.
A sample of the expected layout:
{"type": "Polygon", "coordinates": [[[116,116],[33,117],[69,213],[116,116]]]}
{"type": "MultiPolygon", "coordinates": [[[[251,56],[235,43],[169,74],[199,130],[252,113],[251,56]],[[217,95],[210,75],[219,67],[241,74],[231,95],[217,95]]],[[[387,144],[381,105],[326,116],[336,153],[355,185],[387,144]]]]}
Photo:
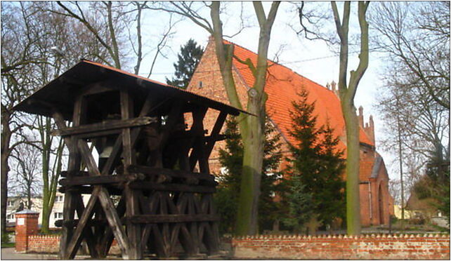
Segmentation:
{"type": "MultiPolygon", "coordinates": [[[[129,152],[128,155],[126,154],[124,156],[124,159],[129,160],[129,162],[126,162],[126,165],[128,166],[131,163],[133,163],[133,155],[131,154],[131,148],[133,146],[133,143],[136,142],[136,139],[138,138],[140,129],[137,128],[133,130],[133,132],[131,132],[130,128],[124,127],[126,127],[127,124],[131,126],[141,126],[151,122],[151,120],[148,117],[139,117],[137,119],[129,120],[131,118],[130,114],[133,113],[131,112],[132,105],[127,104],[129,100],[131,99],[128,98],[128,93],[126,91],[121,91],[122,119],[125,121],[122,122],[115,121],[108,127],[109,129],[123,128],[123,131],[122,135],[119,135],[117,141],[115,142],[115,147],[113,147],[112,152],[113,156],[108,159],[107,163],[103,168],[102,173],[103,175],[109,175],[112,172],[112,166],[115,163],[115,161],[119,159],[122,145],[124,145],[123,146],[124,154],[126,154],[126,152],[129,152]],[[119,138],[122,138],[122,140],[120,140],[119,138]]],[[[140,116],[148,114],[151,108],[151,102],[152,100],[150,99],[150,95],[148,95],[148,98],[145,100],[143,108],[140,112],[140,116]]],[[[65,143],[68,149],[70,150],[70,162],[67,171],[68,177],[70,177],[70,175],[72,175],[73,173],[78,172],[81,159],[83,160],[84,164],[89,170],[89,176],[96,177],[102,175],[100,173],[100,170],[96,166],[96,161],[93,159],[93,156],[91,154],[87,142],[85,140],[79,139],[79,137],[74,135],[80,133],[89,133],[90,132],[89,127],[91,127],[91,132],[103,131],[102,127],[105,127],[105,124],[103,125],[93,124],[88,127],[86,127],[86,125],[80,126],[81,121],[83,121],[83,117],[86,115],[86,112],[84,111],[85,107],[86,105],[84,104],[84,96],[79,95],[74,104],[74,114],[72,117],[73,128],[67,128],[67,126],[65,126],[63,115],[60,112],[56,111],[55,109],[53,112],[53,119],[55,120],[55,123],[58,126],[58,129],[60,131],[59,134],[63,135],[65,143]],[[72,136],[70,138],[66,137],[67,135],[71,134],[72,136]]],[[[125,194],[126,194],[125,197],[122,198],[129,200],[131,199],[132,200],[131,202],[133,202],[133,199],[136,198],[133,195],[133,192],[131,192],[131,189],[126,189],[125,194]]],[[[140,253],[139,250],[136,251],[136,249],[140,249],[139,246],[136,246],[140,242],[140,240],[138,239],[140,233],[139,231],[136,231],[136,227],[138,226],[134,224],[129,224],[128,229],[129,235],[127,236],[125,234],[122,222],[119,219],[119,215],[117,215],[115,205],[114,203],[112,203],[112,200],[110,199],[110,194],[108,193],[107,189],[105,189],[105,187],[102,187],[101,185],[94,186],[93,192],[91,193],[91,198],[89,199],[86,208],[83,206],[83,201],[81,200],[80,194],[74,193],[71,189],[67,189],[67,191],[65,192],[65,205],[64,205],[65,220],[74,220],[74,206],[78,206],[77,213],[79,215],[79,221],[77,222],[77,227],[75,230],[73,229],[73,227],[63,226],[63,236],[60,242],[61,258],[74,258],[82,239],[86,239],[92,257],[105,256],[107,253],[107,248],[111,246],[110,243],[112,242],[111,234],[114,234],[115,238],[117,239],[119,248],[121,248],[122,251],[122,256],[125,259],[142,258],[142,253],[140,253]],[[91,220],[91,217],[93,216],[96,203],[97,205],[98,203],[100,203],[100,206],[103,208],[103,213],[105,213],[107,222],[110,225],[110,227],[107,228],[105,231],[105,236],[101,238],[99,237],[100,240],[98,240],[97,244],[96,242],[93,241],[95,237],[93,236],[93,231],[91,227],[86,227],[87,222],[91,220]],[[135,231],[133,231],[133,228],[135,228],[135,231]],[[133,238],[136,240],[133,240],[133,238]],[[130,248],[129,245],[132,245],[132,247],[130,248]]],[[[120,202],[119,206],[121,206],[120,202]]],[[[136,208],[136,203],[133,204],[127,202],[127,209],[129,210],[128,214],[130,216],[135,214],[133,212],[133,210],[135,210],[133,209],[133,207],[136,208]]],[[[101,215],[102,212],[96,210],[96,213],[98,213],[98,215],[101,215]]]]}

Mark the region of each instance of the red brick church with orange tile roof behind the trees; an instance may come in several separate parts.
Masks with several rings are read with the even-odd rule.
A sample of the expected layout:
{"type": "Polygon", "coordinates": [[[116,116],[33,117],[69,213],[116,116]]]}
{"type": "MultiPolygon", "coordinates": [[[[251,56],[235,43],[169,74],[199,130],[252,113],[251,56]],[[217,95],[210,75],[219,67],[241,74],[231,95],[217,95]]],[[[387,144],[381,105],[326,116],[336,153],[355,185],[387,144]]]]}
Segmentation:
{"type": "MultiPolygon", "coordinates": [[[[226,44],[233,44],[226,42],[226,44]]],[[[256,64],[256,53],[235,46],[235,57],[240,60],[249,58],[256,64]]],[[[321,86],[304,76],[293,72],[291,69],[268,60],[268,80],[266,82],[266,112],[270,122],[280,132],[282,152],[289,155],[289,144],[295,140],[289,135],[292,128],[290,110],[292,101],[298,99],[297,93],[301,88],[308,91],[308,102],[315,103],[315,114],[318,116],[318,124],[329,123],[334,128],[334,135],[339,137],[339,149],[346,150],[346,129],[341,113],[341,105],[336,89],[336,83],[321,86]]],[[[233,76],[237,86],[237,93],[242,105],[246,107],[247,91],[253,86],[252,76],[247,65],[237,59],[233,59],[233,76]]],[[[230,104],[225,89],[223,88],[221,71],[216,58],[214,40],[209,39],[202,59],[200,60],[194,75],[188,86],[188,91],[207,96],[214,100],[230,104]]],[[[204,120],[206,128],[213,126],[218,112],[209,110],[204,120]]],[[[363,226],[387,225],[389,215],[393,214],[393,199],[388,193],[388,174],[384,159],[376,152],[374,145],[374,122],[372,116],[367,123],[364,121],[363,108],[359,108],[360,123],[360,212],[363,226]]],[[[217,142],[210,156],[212,173],[221,171],[221,163],[218,160],[218,151],[225,146],[225,142],[217,142]]],[[[346,154],[345,154],[346,155],[346,154]]],[[[282,166],[284,163],[281,164],[282,166]]]]}

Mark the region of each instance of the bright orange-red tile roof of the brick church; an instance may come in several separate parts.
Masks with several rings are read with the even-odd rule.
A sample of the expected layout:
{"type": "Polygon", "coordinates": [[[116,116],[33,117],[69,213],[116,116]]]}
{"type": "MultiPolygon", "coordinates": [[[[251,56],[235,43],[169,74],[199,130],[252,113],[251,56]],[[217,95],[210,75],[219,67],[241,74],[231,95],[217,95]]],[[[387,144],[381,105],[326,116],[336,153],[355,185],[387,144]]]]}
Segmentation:
{"type": "MultiPolygon", "coordinates": [[[[227,44],[233,44],[228,41],[225,42],[227,44]]],[[[249,58],[254,65],[256,64],[256,53],[242,46],[234,45],[235,56],[237,58],[240,58],[240,60],[249,58]]],[[[252,87],[254,85],[254,76],[252,76],[247,65],[243,65],[236,59],[233,60],[233,65],[247,86],[252,87]]],[[[345,124],[343,114],[341,113],[340,100],[332,91],[270,60],[268,60],[267,77],[268,81],[265,87],[265,91],[268,93],[266,111],[277,127],[280,128],[282,135],[285,136],[288,142],[292,144],[295,142],[291,135],[289,135],[289,130],[292,129],[292,119],[289,112],[292,110],[292,101],[298,100],[299,96],[297,93],[301,91],[302,87],[306,88],[309,93],[308,102],[316,102],[314,114],[318,116],[318,124],[323,125],[329,122],[329,125],[334,128],[334,134],[337,137],[345,135],[345,124]]],[[[374,146],[374,143],[368,138],[361,127],[360,142],[374,146]]],[[[346,149],[346,144],[340,141],[339,149],[346,149]]]]}

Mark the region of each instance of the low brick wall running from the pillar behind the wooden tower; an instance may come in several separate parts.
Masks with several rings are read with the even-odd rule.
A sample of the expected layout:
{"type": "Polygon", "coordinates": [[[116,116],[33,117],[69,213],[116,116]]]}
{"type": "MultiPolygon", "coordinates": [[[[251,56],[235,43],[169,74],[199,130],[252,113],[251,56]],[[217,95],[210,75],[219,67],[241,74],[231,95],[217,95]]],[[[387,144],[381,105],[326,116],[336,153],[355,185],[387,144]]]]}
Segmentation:
{"type": "MultiPolygon", "coordinates": [[[[81,248],[79,248],[81,249],[81,248]]],[[[28,236],[28,250],[33,253],[58,253],[60,250],[60,236],[28,236]]],[[[121,250],[117,241],[113,240],[110,255],[119,255],[121,250]]]]}

